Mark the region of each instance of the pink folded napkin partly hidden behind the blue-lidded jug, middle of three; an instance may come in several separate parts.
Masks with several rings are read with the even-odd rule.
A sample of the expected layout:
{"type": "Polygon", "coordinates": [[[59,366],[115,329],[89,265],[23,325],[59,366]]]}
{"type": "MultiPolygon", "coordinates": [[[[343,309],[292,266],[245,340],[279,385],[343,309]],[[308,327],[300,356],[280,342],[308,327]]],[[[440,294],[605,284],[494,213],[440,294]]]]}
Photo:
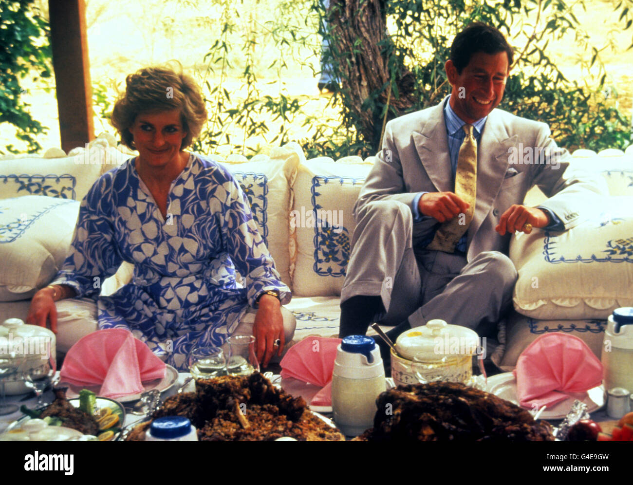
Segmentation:
{"type": "Polygon", "coordinates": [[[306,337],[293,345],[282,358],[281,376],[322,386],[310,402],[313,406],[332,405],[332,370],[341,339],[306,337]]]}

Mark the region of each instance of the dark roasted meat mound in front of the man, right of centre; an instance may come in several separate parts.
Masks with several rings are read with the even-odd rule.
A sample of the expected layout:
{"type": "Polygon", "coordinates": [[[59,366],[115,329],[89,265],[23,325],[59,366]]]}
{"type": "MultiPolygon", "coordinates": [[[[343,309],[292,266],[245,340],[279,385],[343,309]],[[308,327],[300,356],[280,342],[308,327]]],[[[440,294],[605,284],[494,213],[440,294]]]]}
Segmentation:
{"type": "Polygon", "coordinates": [[[358,441],[554,441],[551,426],[494,394],[456,382],[398,386],[376,400],[358,441]]]}

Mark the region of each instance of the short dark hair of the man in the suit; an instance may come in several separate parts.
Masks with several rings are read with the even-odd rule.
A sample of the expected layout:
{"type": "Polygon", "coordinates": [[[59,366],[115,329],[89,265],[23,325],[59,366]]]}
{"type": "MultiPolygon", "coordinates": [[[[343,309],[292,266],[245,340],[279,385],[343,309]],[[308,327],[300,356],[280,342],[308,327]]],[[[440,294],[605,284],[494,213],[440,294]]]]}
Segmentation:
{"type": "Polygon", "coordinates": [[[451,45],[451,61],[461,74],[470,62],[473,54],[484,52],[486,54],[508,54],[508,68],[512,65],[512,47],[503,37],[503,34],[494,27],[482,22],[474,22],[455,36],[451,45]]]}

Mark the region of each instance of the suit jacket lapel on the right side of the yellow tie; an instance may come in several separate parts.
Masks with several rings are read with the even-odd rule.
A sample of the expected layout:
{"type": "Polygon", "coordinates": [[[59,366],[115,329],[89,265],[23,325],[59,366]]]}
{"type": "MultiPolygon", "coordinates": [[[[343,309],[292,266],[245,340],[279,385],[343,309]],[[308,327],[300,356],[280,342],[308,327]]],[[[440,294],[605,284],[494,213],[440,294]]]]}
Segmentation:
{"type": "Polygon", "coordinates": [[[508,148],[515,146],[516,140],[517,135],[508,137],[501,114],[498,110],[493,110],[488,115],[477,148],[477,206],[472,224],[468,228],[469,242],[477,234],[499,193],[508,169],[508,148]]]}

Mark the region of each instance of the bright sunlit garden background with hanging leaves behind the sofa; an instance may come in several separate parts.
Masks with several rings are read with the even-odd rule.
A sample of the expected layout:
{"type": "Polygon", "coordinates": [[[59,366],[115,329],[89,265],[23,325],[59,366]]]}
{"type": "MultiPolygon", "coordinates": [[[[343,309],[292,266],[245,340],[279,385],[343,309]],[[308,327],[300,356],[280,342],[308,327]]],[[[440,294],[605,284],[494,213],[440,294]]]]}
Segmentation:
{"type": "MultiPolygon", "coordinates": [[[[398,93],[387,83],[373,89],[362,108],[380,127],[390,90],[387,117],[437,102],[448,92],[443,63],[454,33],[471,20],[484,20],[501,25],[523,53],[508,80],[503,108],[548,122],[559,144],[570,149],[624,148],[630,142],[633,98],[633,50],[626,48],[633,29],[622,31],[630,26],[632,1],[379,2],[388,14],[389,37],[380,48],[389,60],[389,79],[412,73],[417,101],[394,108],[398,93]]],[[[3,11],[6,3],[0,0],[3,11]]],[[[39,13],[29,14],[44,32],[46,5],[35,0],[39,13]]],[[[210,122],[197,142],[199,151],[250,156],[268,144],[298,141],[308,156],[375,153],[377,137],[363,136],[345,89],[331,98],[318,95],[322,13],[315,0],[87,0],[97,131],[113,131],[108,112],[127,73],[178,59],[203,85],[209,102],[210,122]]],[[[31,66],[19,79],[27,89],[20,99],[32,104],[35,119],[51,126],[47,135],[34,134],[34,141],[59,146],[54,82],[41,72],[31,66]]],[[[8,144],[39,149],[20,145],[7,125],[0,124],[0,149],[8,144]]]]}

